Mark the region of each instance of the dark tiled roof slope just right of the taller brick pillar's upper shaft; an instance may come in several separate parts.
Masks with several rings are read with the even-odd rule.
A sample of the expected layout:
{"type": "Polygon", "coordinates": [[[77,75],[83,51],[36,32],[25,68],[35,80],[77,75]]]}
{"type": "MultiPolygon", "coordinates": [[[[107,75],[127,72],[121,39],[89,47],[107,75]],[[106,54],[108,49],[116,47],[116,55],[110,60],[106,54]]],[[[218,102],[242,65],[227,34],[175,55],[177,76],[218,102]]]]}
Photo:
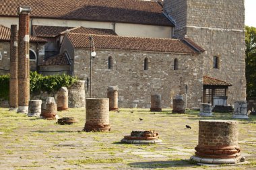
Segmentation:
{"type": "Polygon", "coordinates": [[[33,35],[40,37],[55,37],[65,30],[73,27],[57,27],[57,26],[35,26],[33,25],[33,35]]]}

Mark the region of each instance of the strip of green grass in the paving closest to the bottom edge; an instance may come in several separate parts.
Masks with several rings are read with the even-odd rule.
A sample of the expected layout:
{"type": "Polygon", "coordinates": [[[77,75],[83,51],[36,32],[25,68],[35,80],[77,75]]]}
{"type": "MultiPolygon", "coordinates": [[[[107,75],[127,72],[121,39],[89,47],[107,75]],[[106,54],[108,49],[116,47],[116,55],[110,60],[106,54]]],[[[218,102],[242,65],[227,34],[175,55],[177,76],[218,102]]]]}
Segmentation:
{"type": "Polygon", "coordinates": [[[66,160],[66,163],[71,165],[83,165],[92,163],[121,163],[123,159],[113,158],[113,159],[78,159],[78,160],[66,160]]]}

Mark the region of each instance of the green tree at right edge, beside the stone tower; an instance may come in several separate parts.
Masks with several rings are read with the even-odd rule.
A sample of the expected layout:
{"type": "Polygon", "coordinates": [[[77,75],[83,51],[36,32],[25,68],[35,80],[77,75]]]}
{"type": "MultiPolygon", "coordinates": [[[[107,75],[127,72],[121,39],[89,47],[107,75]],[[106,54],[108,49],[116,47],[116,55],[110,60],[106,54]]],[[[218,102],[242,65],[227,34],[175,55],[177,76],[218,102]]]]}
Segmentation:
{"type": "Polygon", "coordinates": [[[256,28],[245,26],[247,96],[256,97],[256,28]]]}

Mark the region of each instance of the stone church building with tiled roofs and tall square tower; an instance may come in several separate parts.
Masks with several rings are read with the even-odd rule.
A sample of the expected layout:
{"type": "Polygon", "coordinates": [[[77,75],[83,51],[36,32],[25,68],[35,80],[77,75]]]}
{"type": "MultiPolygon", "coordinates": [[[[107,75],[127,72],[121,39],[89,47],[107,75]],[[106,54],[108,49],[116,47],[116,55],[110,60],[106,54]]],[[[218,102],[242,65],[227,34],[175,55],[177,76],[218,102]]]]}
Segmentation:
{"type": "Polygon", "coordinates": [[[186,92],[188,108],[214,96],[228,104],[246,98],[243,0],[3,0],[0,74],[9,68],[7,32],[20,5],[32,7],[32,70],[84,79],[87,96],[95,50],[92,97],[118,86],[121,108],[148,108],[153,93],[163,108],[186,92]]]}

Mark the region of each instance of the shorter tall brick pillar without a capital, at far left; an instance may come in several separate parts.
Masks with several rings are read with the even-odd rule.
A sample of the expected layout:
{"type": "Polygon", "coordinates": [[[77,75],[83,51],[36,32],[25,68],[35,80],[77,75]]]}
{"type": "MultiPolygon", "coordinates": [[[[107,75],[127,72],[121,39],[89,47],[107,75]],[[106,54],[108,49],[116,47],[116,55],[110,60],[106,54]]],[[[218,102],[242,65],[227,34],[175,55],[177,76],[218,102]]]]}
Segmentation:
{"type": "Polygon", "coordinates": [[[9,110],[18,110],[18,26],[11,25],[9,110]]]}

